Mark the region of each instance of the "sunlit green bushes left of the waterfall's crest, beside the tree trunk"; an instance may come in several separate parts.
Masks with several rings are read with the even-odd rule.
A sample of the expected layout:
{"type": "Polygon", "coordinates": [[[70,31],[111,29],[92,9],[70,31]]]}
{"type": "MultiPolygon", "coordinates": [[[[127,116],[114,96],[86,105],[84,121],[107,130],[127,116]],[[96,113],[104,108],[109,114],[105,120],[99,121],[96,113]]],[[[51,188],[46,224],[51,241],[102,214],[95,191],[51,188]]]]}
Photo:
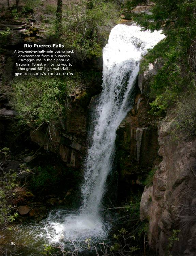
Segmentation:
{"type": "MultiPolygon", "coordinates": [[[[72,46],[80,59],[100,57],[109,35],[106,26],[118,17],[116,9],[112,1],[81,1],[78,5],[67,2],[63,10],[60,40],[67,48],[72,46]]],[[[55,21],[49,35],[59,39],[59,32],[54,34],[54,31],[55,21]]]]}

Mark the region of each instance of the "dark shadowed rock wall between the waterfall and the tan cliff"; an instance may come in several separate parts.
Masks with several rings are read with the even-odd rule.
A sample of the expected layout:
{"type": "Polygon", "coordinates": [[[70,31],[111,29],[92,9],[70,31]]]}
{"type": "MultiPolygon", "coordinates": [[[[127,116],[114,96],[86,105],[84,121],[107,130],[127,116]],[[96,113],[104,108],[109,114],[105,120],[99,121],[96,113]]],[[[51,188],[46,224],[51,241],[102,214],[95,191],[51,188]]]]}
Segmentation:
{"type": "Polygon", "coordinates": [[[148,111],[148,98],[138,92],[132,110],[117,130],[119,198],[129,197],[134,185],[141,184],[142,176],[160,162],[157,126],[148,111]]]}

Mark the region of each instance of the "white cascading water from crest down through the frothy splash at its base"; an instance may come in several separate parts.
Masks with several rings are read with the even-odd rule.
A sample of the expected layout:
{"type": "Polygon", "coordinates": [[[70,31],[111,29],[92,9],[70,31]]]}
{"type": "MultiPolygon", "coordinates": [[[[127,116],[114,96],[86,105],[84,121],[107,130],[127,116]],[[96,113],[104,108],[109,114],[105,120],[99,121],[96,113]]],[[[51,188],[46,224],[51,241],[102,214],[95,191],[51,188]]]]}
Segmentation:
{"type": "Polygon", "coordinates": [[[164,37],[161,31],[141,31],[136,25],[119,24],[112,29],[103,49],[103,91],[94,112],[92,144],[85,161],[83,204],[78,214],[62,217],[58,211],[49,217],[50,228],[46,225],[45,229],[52,241],[107,236],[108,227],[103,224],[99,209],[112,168],[116,130],[130,109],[130,91],[140,59],[164,37]],[[51,228],[55,235],[50,233],[51,228]]]}

